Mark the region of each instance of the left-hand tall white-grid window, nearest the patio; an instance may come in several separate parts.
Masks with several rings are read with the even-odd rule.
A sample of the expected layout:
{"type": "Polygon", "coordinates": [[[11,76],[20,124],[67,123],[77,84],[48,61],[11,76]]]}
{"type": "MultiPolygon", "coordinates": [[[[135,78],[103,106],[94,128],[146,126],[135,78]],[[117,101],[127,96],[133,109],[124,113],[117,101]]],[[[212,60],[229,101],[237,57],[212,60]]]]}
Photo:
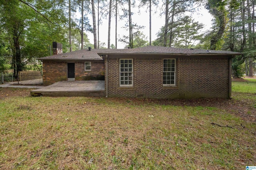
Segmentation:
{"type": "Polygon", "coordinates": [[[120,86],[132,86],[132,59],[120,59],[120,86]]]}

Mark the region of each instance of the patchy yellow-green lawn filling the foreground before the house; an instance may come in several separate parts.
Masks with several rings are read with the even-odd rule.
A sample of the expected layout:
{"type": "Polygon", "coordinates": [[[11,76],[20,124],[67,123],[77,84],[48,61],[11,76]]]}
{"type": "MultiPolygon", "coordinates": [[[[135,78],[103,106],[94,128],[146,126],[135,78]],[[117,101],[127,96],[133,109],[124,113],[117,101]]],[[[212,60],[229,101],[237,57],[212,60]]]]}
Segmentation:
{"type": "Polygon", "coordinates": [[[218,107],[8,97],[0,99],[0,169],[240,170],[256,166],[255,129],[218,107]]]}

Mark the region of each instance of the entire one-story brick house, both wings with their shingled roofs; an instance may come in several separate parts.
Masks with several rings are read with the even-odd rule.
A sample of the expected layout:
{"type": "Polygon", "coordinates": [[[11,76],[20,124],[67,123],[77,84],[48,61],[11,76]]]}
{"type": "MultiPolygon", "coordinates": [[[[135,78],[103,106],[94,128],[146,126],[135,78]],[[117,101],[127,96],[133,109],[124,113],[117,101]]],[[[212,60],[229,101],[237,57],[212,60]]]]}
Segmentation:
{"type": "Polygon", "coordinates": [[[83,49],[39,59],[44,84],[104,75],[106,97],[230,98],[231,59],[240,54],[147,46],[83,49]]]}

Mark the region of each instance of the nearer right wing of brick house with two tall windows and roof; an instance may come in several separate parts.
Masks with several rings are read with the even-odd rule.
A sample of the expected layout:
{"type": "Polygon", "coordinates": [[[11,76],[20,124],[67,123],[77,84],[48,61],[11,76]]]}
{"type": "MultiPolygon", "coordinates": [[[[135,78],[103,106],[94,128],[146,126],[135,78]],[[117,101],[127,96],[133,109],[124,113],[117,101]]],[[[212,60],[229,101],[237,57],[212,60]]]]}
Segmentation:
{"type": "Polygon", "coordinates": [[[106,97],[230,98],[231,59],[240,53],[147,46],[98,53],[106,97]]]}

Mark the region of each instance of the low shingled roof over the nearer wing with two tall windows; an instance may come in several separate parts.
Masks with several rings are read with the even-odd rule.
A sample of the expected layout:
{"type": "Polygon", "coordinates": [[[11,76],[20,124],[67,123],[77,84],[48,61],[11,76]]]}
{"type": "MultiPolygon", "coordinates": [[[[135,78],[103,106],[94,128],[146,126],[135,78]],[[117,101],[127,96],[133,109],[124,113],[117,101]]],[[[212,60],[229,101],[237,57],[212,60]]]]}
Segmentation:
{"type": "Polygon", "coordinates": [[[180,55],[197,55],[197,54],[224,54],[224,55],[240,55],[241,53],[232,51],[216,51],[206,49],[188,49],[188,48],[174,48],[174,47],[160,47],[160,46],[146,46],[132,49],[117,49],[114,51],[104,51],[103,54],[180,54],[180,55]]]}

